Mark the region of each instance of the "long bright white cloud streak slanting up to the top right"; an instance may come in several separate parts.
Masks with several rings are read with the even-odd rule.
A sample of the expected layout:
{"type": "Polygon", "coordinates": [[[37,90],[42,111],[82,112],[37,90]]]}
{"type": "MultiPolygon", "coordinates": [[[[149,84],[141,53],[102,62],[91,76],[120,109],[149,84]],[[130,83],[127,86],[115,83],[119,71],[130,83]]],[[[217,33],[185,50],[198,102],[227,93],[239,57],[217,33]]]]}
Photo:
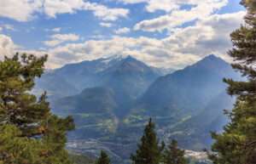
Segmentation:
{"type": "Polygon", "coordinates": [[[192,0],[191,2],[190,0],[176,1],[194,4],[196,6],[189,10],[177,9],[172,11],[171,14],[162,15],[153,20],[143,20],[134,26],[134,30],[162,31],[164,29],[172,29],[178,25],[183,25],[184,23],[191,22],[193,20],[203,20],[207,16],[211,15],[216,9],[222,8],[228,3],[228,0],[199,0],[196,1],[196,3],[193,3],[192,0]]]}

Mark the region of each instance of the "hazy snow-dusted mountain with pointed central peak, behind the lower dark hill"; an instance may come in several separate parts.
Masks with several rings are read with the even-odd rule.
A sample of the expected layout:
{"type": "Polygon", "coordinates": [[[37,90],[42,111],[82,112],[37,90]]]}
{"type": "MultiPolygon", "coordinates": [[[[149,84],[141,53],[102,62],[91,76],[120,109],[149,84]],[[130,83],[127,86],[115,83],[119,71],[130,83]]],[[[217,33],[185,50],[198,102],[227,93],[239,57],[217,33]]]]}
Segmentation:
{"type": "Polygon", "coordinates": [[[107,87],[113,89],[118,105],[137,99],[159,76],[148,65],[131,56],[112,56],[83,61],[64,65],[51,72],[38,79],[36,87],[37,91],[46,90],[54,94],[51,96],[52,99],[60,98],[60,95],[65,97],[79,93],[84,88],[107,87]],[[49,86],[46,85],[47,83],[49,86]],[[62,86],[67,87],[67,93],[64,93],[65,88],[62,86]],[[52,92],[54,88],[55,92],[52,92]],[[70,92],[70,89],[73,89],[73,92],[70,92]]]}

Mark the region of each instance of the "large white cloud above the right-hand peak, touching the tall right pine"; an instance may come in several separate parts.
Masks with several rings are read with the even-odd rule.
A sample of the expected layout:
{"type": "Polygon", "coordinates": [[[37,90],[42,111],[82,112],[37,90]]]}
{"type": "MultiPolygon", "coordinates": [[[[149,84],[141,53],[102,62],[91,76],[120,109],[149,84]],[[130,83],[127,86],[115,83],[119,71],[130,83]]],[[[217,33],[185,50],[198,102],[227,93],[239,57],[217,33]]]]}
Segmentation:
{"type": "Polygon", "coordinates": [[[205,20],[184,29],[175,29],[173,35],[163,39],[166,48],[182,54],[217,54],[227,57],[226,52],[232,47],[230,32],[243,22],[244,11],[235,14],[214,14],[205,20]]]}

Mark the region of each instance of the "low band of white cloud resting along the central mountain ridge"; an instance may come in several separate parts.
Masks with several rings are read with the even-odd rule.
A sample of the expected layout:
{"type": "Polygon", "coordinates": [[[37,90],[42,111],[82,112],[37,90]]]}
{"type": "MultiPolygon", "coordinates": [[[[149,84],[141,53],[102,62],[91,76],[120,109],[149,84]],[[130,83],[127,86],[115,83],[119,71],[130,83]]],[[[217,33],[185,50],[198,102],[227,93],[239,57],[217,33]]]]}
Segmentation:
{"type": "Polygon", "coordinates": [[[193,54],[186,54],[186,59],[183,59],[181,53],[172,54],[169,48],[164,48],[161,40],[118,36],[104,41],[90,40],[80,44],[67,44],[49,49],[49,54],[55,56],[55,67],[84,59],[98,59],[108,54],[130,54],[148,65],[175,68],[181,68],[200,59],[193,54]]]}

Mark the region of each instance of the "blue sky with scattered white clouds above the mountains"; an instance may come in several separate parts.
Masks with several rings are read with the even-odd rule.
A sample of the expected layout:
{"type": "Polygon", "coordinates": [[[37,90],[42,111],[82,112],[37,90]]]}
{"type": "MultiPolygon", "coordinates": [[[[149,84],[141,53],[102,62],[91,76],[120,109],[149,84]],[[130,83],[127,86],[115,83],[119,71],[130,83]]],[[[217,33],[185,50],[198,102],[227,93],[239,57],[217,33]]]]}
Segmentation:
{"type": "Polygon", "coordinates": [[[230,61],[240,0],[0,0],[0,59],[49,54],[55,69],[85,59],[131,55],[182,69],[209,54],[230,61]]]}

